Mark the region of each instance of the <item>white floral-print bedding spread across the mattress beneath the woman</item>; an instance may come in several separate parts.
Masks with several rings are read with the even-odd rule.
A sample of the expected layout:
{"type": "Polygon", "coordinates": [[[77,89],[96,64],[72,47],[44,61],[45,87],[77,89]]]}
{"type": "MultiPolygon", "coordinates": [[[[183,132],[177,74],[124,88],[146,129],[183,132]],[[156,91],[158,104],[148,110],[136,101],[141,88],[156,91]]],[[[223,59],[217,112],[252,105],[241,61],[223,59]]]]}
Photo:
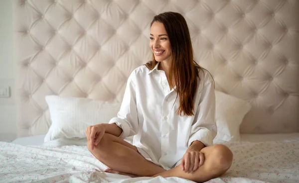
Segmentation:
{"type": "MultiPolygon", "coordinates": [[[[233,165],[209,183],[299,183],[299,141],[226,144],[233,165]]],[[[0,142],[1,183],[186,183],[179,178],[130,178],[107,167],[86,146],[21,146],[0,142]]],[[[190,182],[191,183],[191,182],[190,182]]]]}

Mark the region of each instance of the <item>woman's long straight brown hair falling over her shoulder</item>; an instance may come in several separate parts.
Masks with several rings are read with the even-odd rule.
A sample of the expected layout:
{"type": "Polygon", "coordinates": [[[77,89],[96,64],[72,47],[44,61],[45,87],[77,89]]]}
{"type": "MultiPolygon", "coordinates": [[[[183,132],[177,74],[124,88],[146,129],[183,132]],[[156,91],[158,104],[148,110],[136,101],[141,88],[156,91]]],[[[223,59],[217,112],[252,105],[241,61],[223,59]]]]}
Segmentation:
{"type": "MultiPolygon", "coordinates": [[[[176,99],[179,95],[179,107],[177,114],[182,112],[188,116],[193,113],[193,98],[197,88],[197,77],[201,67],[193,60],[193,50],[185,18],[176,12],[164,12],[153,17],[153,22],[163,23],[171,45],[171,56],[169,62],[169,85],[176,87],[176,99]]],[[[157,61],[152,54],[152,61],[146,66],[152,70],[157,61]]],[[[176,100],[175,99],[175,100],[176,100]]]]}

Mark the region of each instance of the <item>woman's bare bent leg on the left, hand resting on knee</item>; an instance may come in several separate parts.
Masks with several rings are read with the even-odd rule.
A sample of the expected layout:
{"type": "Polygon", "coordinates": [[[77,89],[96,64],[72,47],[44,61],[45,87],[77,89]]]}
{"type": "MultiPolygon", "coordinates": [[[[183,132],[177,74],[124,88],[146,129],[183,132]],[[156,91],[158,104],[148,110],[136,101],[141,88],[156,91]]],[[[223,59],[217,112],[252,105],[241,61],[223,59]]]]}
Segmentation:
{"type": "Polygon", "coordinates": [[[104,134],[93,150],[90,142],[87,148],[100,162],[114,171],[138,176],[152,176],[165,171],[146,160],[135,146],[109,133],[104,134]]]}

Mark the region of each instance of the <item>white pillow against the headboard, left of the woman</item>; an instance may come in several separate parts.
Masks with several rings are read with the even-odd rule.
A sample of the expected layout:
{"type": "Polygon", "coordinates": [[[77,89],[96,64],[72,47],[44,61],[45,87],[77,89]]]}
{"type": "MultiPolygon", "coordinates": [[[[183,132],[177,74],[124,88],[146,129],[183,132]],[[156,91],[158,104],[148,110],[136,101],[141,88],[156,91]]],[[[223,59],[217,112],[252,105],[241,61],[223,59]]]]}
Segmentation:
{"type": "Polygon", "coordinates": [[[106,102],[79,97],[61,97],[47,95],[52,124],[44,142],[59,138],[86,138],[85,130],[88,126],[108,123],[116,117],[120,109],[120,102],[106,102]]]}

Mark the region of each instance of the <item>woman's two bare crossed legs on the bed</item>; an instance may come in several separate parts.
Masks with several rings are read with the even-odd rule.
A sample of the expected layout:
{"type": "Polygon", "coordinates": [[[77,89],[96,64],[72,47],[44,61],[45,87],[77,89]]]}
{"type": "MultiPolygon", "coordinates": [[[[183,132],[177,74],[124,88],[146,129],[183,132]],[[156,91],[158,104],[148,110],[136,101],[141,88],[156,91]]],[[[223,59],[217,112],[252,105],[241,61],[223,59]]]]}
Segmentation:
{"type": "Polygon", "coordinates": [[[179,177],[195,182],[205,182],[221,176],[230,168],[233,159],[232,152],[226,146],[208,146],[201,150],[205,156],[204,164],[188,174],[184,173],[180,166],[165,171],[141,156],[135,146],[108,133],[105,133],[94,150],[90,149],[89,144],[88,149],[98,160],[112,169],[111,173],[179,177]]]}

